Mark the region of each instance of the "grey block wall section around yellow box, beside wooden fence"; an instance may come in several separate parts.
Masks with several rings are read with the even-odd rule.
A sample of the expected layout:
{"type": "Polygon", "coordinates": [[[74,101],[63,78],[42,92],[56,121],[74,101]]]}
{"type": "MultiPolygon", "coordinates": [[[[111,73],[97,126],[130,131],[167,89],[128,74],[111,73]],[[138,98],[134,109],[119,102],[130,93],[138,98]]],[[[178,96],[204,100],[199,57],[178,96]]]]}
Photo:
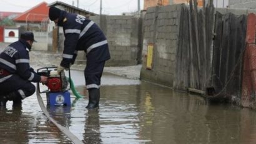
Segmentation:
{"type": "Polygon", "coordinates": [[[179,37],[181,4],[150,7],[144,18],[140,78],[172,87],[179,37]],[[147,69],[147,46],[154,45],[152,69],[147,69]]]}

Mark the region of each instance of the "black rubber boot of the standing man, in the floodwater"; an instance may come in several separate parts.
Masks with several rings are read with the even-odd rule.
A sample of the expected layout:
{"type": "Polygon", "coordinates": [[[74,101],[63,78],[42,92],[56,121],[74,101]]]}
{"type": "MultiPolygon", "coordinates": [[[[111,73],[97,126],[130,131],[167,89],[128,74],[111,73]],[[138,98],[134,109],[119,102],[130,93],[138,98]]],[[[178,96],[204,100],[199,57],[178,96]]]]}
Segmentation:
{"type": "Polygon", "coordinates": [[[89,103],[86,106],[88,109],[99,108],[99,89],[89,89],[89,103]]]}

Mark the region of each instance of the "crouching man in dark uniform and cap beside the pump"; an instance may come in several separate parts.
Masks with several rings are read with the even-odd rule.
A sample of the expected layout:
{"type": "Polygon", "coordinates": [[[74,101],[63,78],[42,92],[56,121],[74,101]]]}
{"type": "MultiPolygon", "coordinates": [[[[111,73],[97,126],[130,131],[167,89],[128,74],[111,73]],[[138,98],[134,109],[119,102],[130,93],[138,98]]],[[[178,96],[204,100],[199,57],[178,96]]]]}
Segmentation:
{"type": "Polygon", "coordinates": [[[8,100],[13,104],[31,96],[36,87],[31,82],[46,83],[47,77],[37,75],[29,65],[29,51],[35,42],[32,32],[21,34],[19,41],[7,46],[0,54],[0,106],[8,100]]]}

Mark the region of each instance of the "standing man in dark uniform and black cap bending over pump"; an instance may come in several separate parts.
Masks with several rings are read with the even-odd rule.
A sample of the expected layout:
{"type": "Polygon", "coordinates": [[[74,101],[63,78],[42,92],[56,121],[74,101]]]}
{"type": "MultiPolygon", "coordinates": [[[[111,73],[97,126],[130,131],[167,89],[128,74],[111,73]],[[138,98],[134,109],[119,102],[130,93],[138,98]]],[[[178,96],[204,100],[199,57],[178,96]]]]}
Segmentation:
{"type": "Polygon", "coordinates": [[[84,77],[89,93],[89,103],[86,108],[98,108],[102,72],[105,61],[111,58],[106,37],[93,21],[79,14],[50,7],[49,19],[57,26],[63,27],[65,36],[62,61],[57,70],[60,72],[68,69],[76,60],[77,50],[84,50],[86,52],[84,77]]]}

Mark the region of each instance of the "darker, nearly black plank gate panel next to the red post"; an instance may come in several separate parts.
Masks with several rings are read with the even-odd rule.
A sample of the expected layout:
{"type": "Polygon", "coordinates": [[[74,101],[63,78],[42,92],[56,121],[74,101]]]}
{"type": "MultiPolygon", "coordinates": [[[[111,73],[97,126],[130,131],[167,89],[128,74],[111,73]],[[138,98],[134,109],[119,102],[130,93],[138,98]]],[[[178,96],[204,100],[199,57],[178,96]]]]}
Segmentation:
{"type": "Polygon", "coordinates": [[[242,62],[245,50],[247,16],[215,14],[215,37],[212,62],[213,97],[240,97],[242,62]]]}

